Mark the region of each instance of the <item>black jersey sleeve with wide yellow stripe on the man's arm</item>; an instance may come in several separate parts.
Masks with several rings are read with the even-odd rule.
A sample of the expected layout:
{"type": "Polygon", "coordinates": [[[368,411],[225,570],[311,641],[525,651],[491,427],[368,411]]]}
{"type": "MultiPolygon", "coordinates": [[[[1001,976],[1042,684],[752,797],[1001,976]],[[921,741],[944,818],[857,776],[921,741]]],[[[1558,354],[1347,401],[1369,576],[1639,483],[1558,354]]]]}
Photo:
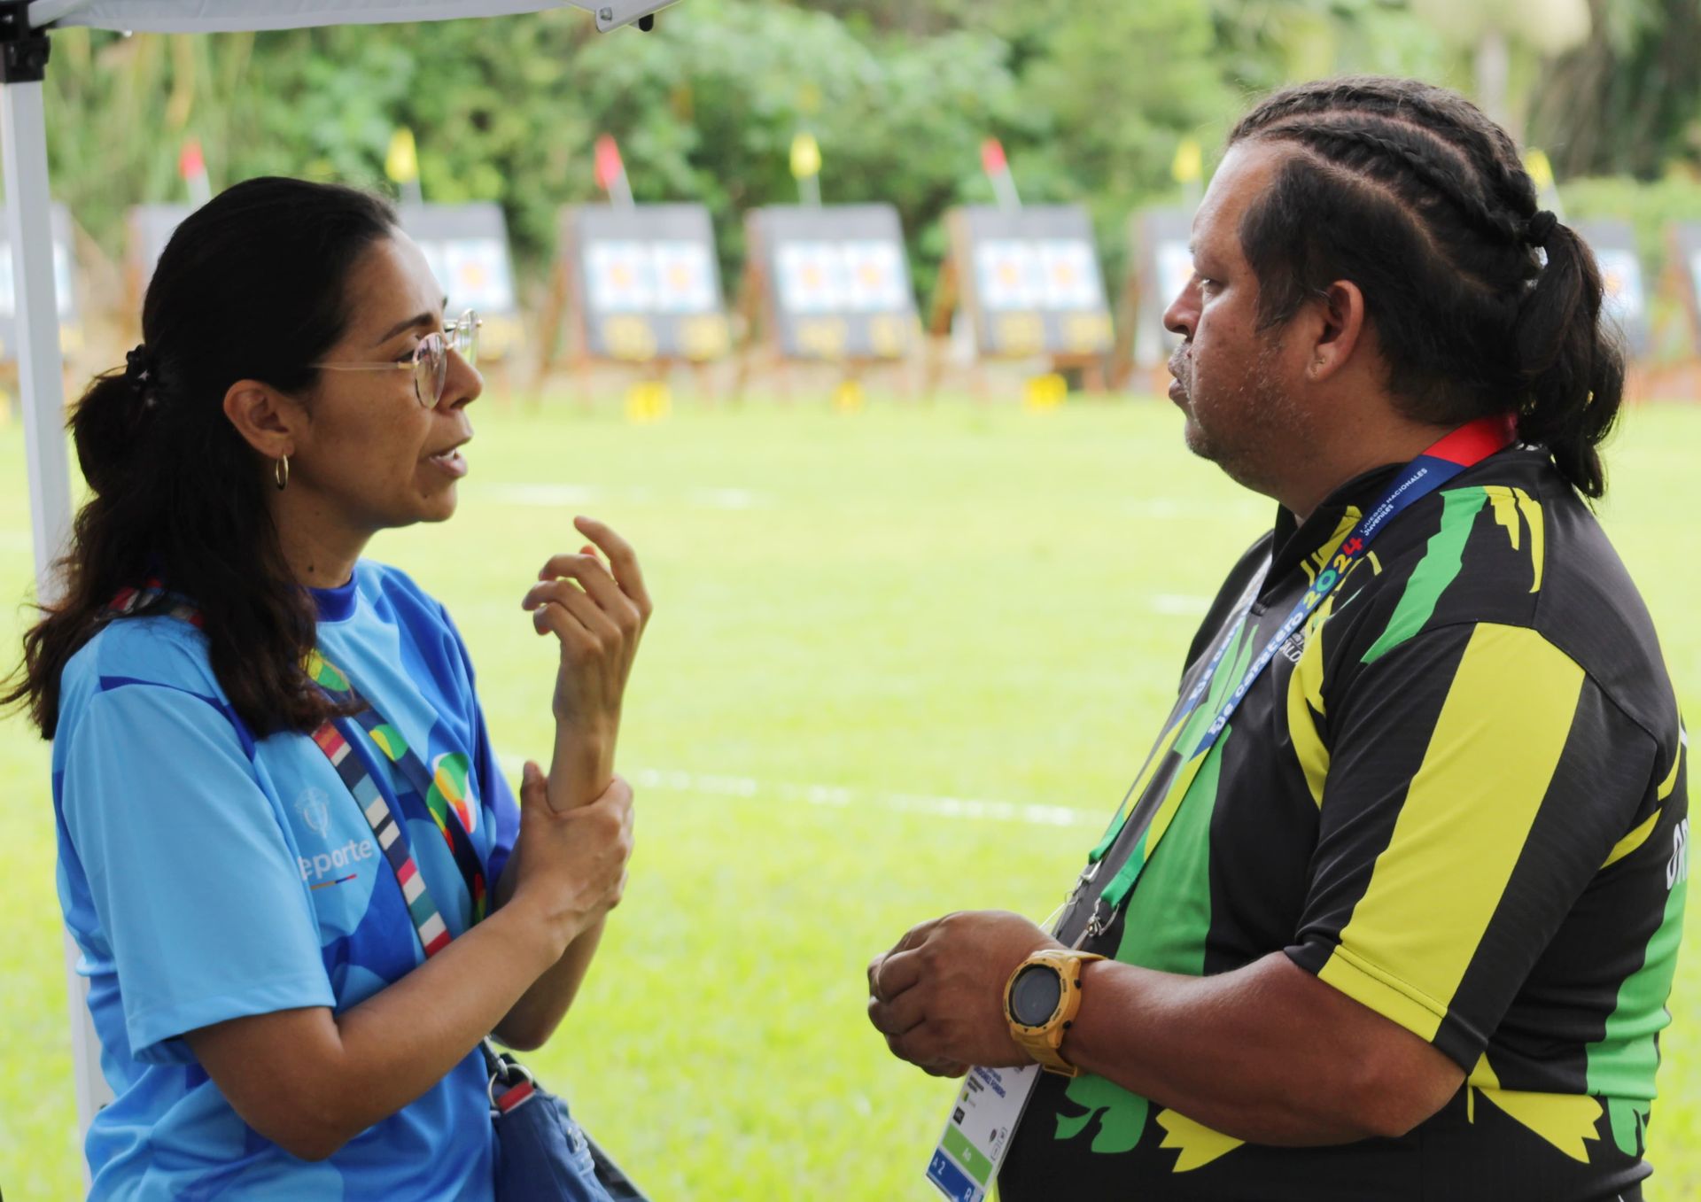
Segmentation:
{"type": "Polygon", "coordinates": [[[1466,1071],[1647,789],[1655,743],[1517,626],[1420,634],[1327,697],[1288,955],[1466,1071]]]}

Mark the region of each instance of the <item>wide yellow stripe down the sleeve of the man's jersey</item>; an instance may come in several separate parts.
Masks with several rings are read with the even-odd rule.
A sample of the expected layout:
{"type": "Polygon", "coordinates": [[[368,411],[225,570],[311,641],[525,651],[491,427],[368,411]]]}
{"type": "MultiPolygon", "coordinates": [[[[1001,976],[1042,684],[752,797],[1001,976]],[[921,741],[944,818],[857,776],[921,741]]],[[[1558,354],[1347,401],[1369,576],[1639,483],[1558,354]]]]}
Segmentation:
{"type": "Polygon", "coordinates": [[[1536,631],[1483,622],[1388,847],[1318,974],[1434,1039],[1553,780],[1584,670],[1536,631]]]}

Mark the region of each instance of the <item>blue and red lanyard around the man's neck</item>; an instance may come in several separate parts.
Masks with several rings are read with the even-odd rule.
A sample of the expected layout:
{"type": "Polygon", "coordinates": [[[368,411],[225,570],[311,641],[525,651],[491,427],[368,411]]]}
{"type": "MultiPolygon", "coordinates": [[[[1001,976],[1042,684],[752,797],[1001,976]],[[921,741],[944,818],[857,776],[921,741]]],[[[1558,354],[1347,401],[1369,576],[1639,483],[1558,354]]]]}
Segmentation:
{"type": "MultiPolygon", "coordinates": [[[[1211,748],[1216,746],[1218,738],[1221,738],[1223,729],[1228,726],[1228,719],[1233,716],[1235,709],[1240,707],[1240,702],[1245,700],[1264,668],[1267,668],[1271,660],[1276,658],[1281,646],[1293,638],[1294,631],[1305,626],[1311,614],[1317,612],[1328,593],[1334,592],[1335,585],[1347,576],[1354,564],[1364,556],[1371,541],[1381,534],[1393,519],[1434,493],[1461,471],[1475,468],[1488,456],[1505,449],[1512,442],[1512,428],[1510,417],[1478,418],[1476,422],[1459,427],[1448,437],[1431,445],[1424,454],[1400,471],[1395,481],[1383,491],[1381,498],[1378,498],[1378,502],[1364,512],[1364,517],[1361,517],[1347,537],[1342,539],[1335,556],[1317,575],[1317,580],[1311,581],[1311,587],[1293,607],[1293,612],[1288,614],[1288,619],[1276,627],[1276,632],[1247,665],[1240,683],[1235,685],[1235,689],[1225,697],[1223,704],[1216,711],[1216,716],[1211,719],[1211,724],[1204,729],[1199,743],[1191,750],[1177,748],[1184,765],[1196,760],[1203,762],[1203,758],[1211,753],[1211,748]]],[[[1146,757],[1148,765],[1153,758],[1162,758],[1170,753],[1169,743],[1172,741],[1172,733],[1177,726],[1187,721],[1201,700],[1209,694],[1211,680],[1216,677],[1216,670],[1221,666],[1228,648],[1238,643],[1237,636],[1250,617],[1252,605],[1257,602],[1259,592],[1260,585],[1254,585],[1247,590],[1247,597],[1242,598],[1240,617],[1228,627],[1228,634],[1218,641],[1216,653],[1211,656],[1204,672],[1199,673],[1199,680],[1175,707],[1174,717],[1169,724],[1165,724],[1163,734],[1158,738],[1157,746],[1153,746],[1152,755],[1146,757]]],[[[1145,770],[1141,770],[1141,777],[1145,777],[1145,770]]],[[[1165,779],[1165,774],[1155,772],[1152,779],[1162,780],[1165,779]]],[[[1090,864],[1087,872],[1082,874],[1084,882],[1090,881],[1092,876],[1097,874],[1099,862],[1123,838],[1138,802],[1140,797],[1129,796],[1124,806],[1119,808],[1118,814],[1111,819],[1111,826],[1104,831],[1097,847],[1094,847],[1089,853],[1090,864]]],[[[1148,811],[1146,821],[1140,828],[1140,835],[1146,833],[1153,816],[1155,809],[1148,811]]],[[[1155,840],[1145,842],[1143,848],[1136,847],[1123,864],[1121,870],[1118,870],[1116,877],[1112,877],[1112,881],[1106,886],[1101,894],[1102,904],[1095,906],[1092,921],[1087,927],[1089,935],[1101,933],[1109,925],[1111,916],[1123,906],[1124,901],[1128,901],[1128,894],[1133,893],[1141,869],[1152,859],[1153,847],[1155,840]]]]}

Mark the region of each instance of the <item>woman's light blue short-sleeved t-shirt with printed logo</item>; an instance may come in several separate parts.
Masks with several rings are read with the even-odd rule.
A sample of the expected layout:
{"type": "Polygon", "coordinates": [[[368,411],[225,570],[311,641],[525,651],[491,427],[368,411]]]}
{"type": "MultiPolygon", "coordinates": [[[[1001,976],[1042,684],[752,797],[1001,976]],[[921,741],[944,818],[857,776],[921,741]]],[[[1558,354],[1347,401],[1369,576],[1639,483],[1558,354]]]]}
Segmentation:
{"type": "MultiPolygon", "coordinates": [[[[519,809],[447,612],[401,571],[366,561],[315,600],[321,653],[459,801],[493,887],[519,809]]],[[[391,767],[361,751],[395,804],[391,767]]],[[[53,801],[60,904],[117,1095],[88,1131],[92,1199],[492,1197],[476,1049],[422,1098],[308,1163],[252,1131],[184,1042],[242,1015],[342,1012],[424,961],[395,872],[335,768],[306,734],[252,736],[194,626],[116,619],[71,656],[53,801]]],[[[407,835],[461,935],[471,898],[442,833],[410,819],[407,835]]]]}

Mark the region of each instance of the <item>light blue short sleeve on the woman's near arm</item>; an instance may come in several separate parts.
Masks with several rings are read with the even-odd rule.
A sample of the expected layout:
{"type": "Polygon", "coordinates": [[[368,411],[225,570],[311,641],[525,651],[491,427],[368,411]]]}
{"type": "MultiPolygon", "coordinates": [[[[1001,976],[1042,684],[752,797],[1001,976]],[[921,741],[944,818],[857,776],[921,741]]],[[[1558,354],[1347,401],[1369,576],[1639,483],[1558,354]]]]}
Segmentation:
{"type": "Polygon", "coordinates": [[[177,1037],[226,1018],[335,1005],[296,857],[211,700],[126,683],[63,736],[65,826],[136,1059],[184,1061],[177,1037]]]}

